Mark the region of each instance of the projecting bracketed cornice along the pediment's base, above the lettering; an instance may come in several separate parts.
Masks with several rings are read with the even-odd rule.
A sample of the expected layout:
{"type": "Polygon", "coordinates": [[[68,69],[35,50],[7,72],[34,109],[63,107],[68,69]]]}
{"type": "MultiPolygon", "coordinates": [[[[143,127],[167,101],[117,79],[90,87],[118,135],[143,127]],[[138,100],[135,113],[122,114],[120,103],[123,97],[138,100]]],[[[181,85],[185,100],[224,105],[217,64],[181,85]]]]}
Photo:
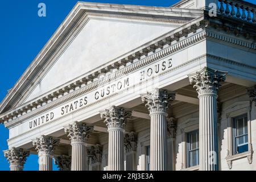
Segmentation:
{"type": "MultiPolygon", "coordinates": [[[[186,24],[183,24],[183,26],[180,26],[176,28],[175,30],[168,32],[167,34],[164,34],[160,36],[159,38],[156,38],[152,40],[150,43],[144,44],[143,46],[136,49],[136,51],[133,51],[129,55],[126,55],[117,61],[115,61],[112,64],[106,65],[105,68],[98,69],[91,73],[90,75],[86,75],[85,77],[80,78],[79,80],[76,80],[72,82],[72,84],[69,84],[65,86],[64,88],[59,88],[53,93],[49,93],[47,96],[36,98],[36,100],[32,100],[26,104],[20,105],[18,107],[15,107],[14,109],[11,109],[3,114],[0,115],[0,122],[5,121],[5,123],[8,123],[9,119],[13,119],[18,117],[18,115],[23,115],[23,113],[27,114],[31,112],[31,109],[40,109],[42,107],[43,103],[48,103],[48,101],[53,101],[53,98],[58,98],[59,96],[63,96],[64,92],[67,92],[69,94],[72,94],[72,90],[75,90],[75,88],[81,88],[82,85],[90,86],[95,85],[96,82],[99,80],[98,76],[101,73],[108,73],[110,72],[110,69],[117,69],[123,68],[123,66],[126,66],[127,63],[133,63],[134,60],[141,60],[141,57],[146,58],[148,55],[152,55],[156,51],[156,49],[163,50],[164,47],[171,46],[174,42],[177,44],[180,43],[179,46],[172,49],[172,52],[176,52],[181,48],[186,47],[187,45],[179,42],[181,38],[186,39],[188,34],[196,34],[197,30],[205,27],[205,20],[204,16],[201,16],[199,18],[196,18],[192,20],[191,22],[188,22],[186,24]],[[179,47],[179,48],[178,48],[179,47]],[[94,80],[96,81],[94,82],[94,80]],[[71,91],[71,92],[69,92],[71,91]]],[[[201,37],[199,38],[201,40],[201,37]]],[[[185,40],[184,40],[185,41],[185,40]]],[[[192,43],[197,42],[195,38],[193,40],[189,41],[187,44],[190,45],[192,43]]],[[[164,51],[164,50],[163,50],[164,51]]],[[[164,53],[163,53],[164,55],[164,53]]],[[[135,68],[133,68],[135,69],[135,68]]],[[[91,88],[93,89],[93,87],[91,88]]],[[[90,89],[89,89],[90,90],[90,89]]],[[[88,91],[89,91],[88,90],[88,91]]],[[[48,103],[48,104],[51,104],[48,103]]],[[[34,110],[33,110],[34,112],[34,110]]]]}

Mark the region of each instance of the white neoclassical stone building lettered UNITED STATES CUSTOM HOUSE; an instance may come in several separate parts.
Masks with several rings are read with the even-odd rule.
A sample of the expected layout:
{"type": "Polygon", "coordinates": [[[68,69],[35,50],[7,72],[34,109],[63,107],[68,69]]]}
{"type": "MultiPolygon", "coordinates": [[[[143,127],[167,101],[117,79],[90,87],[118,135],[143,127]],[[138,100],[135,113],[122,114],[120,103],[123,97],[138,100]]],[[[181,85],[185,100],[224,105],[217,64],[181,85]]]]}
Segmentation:
{"type": "Polygon", "coordinates": [[[256,170],[255,30],[241,0],[77,3],[0,105],[10,169],[256,170]]]}

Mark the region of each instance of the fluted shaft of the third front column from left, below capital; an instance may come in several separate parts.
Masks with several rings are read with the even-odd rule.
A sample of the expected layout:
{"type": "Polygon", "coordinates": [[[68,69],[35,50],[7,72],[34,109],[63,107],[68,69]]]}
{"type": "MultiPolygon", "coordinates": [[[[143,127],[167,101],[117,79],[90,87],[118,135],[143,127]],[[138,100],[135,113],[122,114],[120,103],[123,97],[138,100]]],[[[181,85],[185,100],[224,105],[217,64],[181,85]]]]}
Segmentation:
{"type": "Polygon", "coordinates": [[[85,143],[71,143],[72,146],[72,160],[71,171],[85,171],[86,170],[86,144],[85,143]]]}

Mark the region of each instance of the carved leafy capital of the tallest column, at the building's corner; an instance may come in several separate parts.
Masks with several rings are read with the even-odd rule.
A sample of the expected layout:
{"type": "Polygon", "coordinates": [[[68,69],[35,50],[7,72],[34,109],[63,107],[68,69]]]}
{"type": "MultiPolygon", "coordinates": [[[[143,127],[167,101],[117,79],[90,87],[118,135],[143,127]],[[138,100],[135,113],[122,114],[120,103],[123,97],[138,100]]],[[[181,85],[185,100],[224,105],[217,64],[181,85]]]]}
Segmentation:
{"type": "Polygon", "coordinates": [[[220,82],[225,81],[228,72],[221,72],[210,68],[204,68],[200,72],[188,75],[189,81],[200,94],[217,94],[220,82]]]}

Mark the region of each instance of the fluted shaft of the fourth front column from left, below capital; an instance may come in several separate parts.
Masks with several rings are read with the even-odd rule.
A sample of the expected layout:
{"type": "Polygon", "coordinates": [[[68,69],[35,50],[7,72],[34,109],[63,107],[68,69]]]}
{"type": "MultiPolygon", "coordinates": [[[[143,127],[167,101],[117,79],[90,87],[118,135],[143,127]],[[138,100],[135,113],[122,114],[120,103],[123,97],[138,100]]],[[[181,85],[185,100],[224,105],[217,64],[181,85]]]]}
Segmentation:
{"type": "Polygon", "coordinates": [[[110,129],[109,131],[109,171],[124,171],[125,159],[123,148],[123,129],[110,129]]]}

